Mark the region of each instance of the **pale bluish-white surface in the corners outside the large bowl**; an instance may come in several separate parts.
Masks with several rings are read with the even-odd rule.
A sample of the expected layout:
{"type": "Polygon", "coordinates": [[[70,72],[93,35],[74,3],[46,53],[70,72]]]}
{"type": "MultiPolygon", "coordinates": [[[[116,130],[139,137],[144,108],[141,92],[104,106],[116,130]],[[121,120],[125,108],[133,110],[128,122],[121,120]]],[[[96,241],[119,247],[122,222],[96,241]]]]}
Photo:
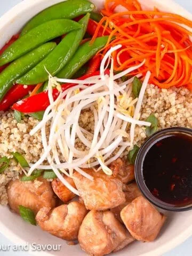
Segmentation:
{"type": "MultiPolygon", "coordinates": [[[[31,1],[35,1],[35,0],[31,0],[31,1]]],[[[159,1],[161,1],[161,0],[159,0],[159,1]]],[[[19,2],[21,2],[21,0],[0,0],[0,15],[2,15],[4,12],[6,12],[12,6],[18,4],[19,2]]],[[[169,2],[169,0],[167,0],[167,2],[169,2]]],[[[192,13],[192,0],[175,0],[175,2],[179,3],[180,5],[185,7],[185,9],[187,9],[188,11],[190,11],[192,13]]],[[[0,214],[0,216],[1,216],[1,214],[0,214]]],[[[1,218],[3,218],[3,216],[1,216],[1,218]]],[[[0,230],[0,232],[1,232],[1,230],[0,230]]],[[[9,242],[9,239],[6,239],[2,234],[0,234],[0,247],[1,247],[1,245],[12,245],[12,243],[9,242]]],[[[29,256],[29,254],[27,252],[14,252],[12,250],[10,250],[8,252],[0,251],[0,255],[1,256],[3,256],[3,255],[5,255],[5,256],[13,256],[13,255],[14,256],[20,256],[20,255],[21,256],[24,256],[24,255],[29,256]]],[[[64,253],[63,253],[63,256],[65,256],[64,253]]],[[[154,255],[154,256],[156,256],[156,255],[154,255]]],[[[170,252],[167,252],[163,256],[192,256],[192,237],[189,238],[182,245],[176,247],[174,250],[172,250],[170,252]]]]}

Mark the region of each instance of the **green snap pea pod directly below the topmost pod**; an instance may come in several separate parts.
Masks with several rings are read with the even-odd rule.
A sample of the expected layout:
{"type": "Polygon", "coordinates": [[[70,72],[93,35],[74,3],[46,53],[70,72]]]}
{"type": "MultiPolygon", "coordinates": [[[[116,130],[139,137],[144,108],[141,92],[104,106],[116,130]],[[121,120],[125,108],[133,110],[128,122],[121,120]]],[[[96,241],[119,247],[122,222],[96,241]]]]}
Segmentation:
{"type": "Polygon", "coordinates": [[[55,37],[79,28],[82,28],[82,25],[73,20],[59,19],[45,22],[10,45],[0,56],[0,66],[21,57],[23,54],[55,37]]]}

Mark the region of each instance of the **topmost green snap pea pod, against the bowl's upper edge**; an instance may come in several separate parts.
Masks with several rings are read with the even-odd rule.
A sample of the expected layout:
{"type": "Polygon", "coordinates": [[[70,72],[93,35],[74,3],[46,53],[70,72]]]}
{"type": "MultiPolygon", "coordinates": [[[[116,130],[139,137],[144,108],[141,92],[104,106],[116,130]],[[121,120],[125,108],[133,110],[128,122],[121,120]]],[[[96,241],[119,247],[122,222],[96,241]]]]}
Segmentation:
{"type": "Polygon", "coordinates": [[[32,18],[22,29],[21,35],[26,34],[29,30],[38,25],[55,19],[74,19],[79,15],[94,10],[94,4],[86,0],[68,0],[48,7],[32,18]]]}

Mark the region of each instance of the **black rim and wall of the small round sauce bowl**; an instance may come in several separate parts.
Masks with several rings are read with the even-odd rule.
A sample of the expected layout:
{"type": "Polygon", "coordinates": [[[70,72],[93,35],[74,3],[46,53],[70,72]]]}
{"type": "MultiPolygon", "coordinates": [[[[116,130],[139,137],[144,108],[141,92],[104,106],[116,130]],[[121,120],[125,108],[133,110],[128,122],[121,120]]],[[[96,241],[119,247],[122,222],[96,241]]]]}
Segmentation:
{"type": "Polygon", "coordinates": [[[185,206],[173,205],[170,203],[163,202],[157,197],[155,197],[146,186],[145,180],[143,178],[143,173],[142,173],[143,162],[145,160],[145,157],[149,149],[153,145],[155,145],[156,142],[160,141],[163,138],[169,137],[169,135],[174,135],[174,134],[188,135],[192,139],[192,129],[188,129],[186,127],[171,127],[171,128],[160,130],[154,133],[153,135],[151,135],[151,137],[149,137],[145,141],[145,143],[143,143],[143,145],[141,146],[138,152],[137,158],[135,160],[135,179],[143,195],[148,199],[148,201],[150,201],[157,207],[164,210],[169,210],[169,211],[187,211],[192,209],[191,203],[185,206]]]}

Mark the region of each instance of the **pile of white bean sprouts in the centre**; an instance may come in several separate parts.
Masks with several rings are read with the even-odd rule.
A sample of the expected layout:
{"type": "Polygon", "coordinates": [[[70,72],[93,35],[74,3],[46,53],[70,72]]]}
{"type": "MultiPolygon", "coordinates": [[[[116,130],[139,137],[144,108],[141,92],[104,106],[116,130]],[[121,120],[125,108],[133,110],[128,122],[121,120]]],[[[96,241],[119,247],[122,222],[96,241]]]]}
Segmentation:
{"type": "MultiPolygon", "coordinates": [[[[114,75],[111,53],[121,47],[121,45],[111,47],[106,53],[101,62],[99,76],[92,76],[79,81],[49,75],[47,90],[50,106],[45,110],[42,121],[30,131],[30,135],[33,135],[41,130],[44,153],[35,164],[30,164],[28,175],[31,175],[35,169],[52,169],[63,184],[78,195],[78,191],[66,181],[62,173],[73,177],[73,171],[75,170],[87,179],[92,180],[93,177],[84,172],[82,168],[93,167],[95,171],[102,169],[107,175],[111,175],[112,171],[108,165],[121,156],[127,147],[131,149],[133,146],[135,125],[150,126],[149,122],[139,120],[150,72],[148,71],[145,76],[139,97],[132,98],[133,77],[120,83],[117,83],[117,79],[121,79],[124,75],[128,75],[133,70],[141,67],[145,60],[138,66],[114,75]],[[106,75],[105,71],[109,63],[110,74],[106,75]],[[76,85],[62,91],[60,83],[74,83],[76,85]],[[57,89],[60,90],[59,97],[56,100],[53,100],[52,96],[54,86],[57,86],[57,89]],[[79,126],[79,116],[85,109],[90,109],[94,114],[93,134],[79,126]],[[46,124],[50,121],[50,134],[47,138],[46,124]],[[130,134],[127,133],[127,125],[131,125],[130,134]],[[91,140],[88,140],[86,135],[89,135],[91,140]],[[88,150],[78,150],[75,147],[76,138],[88,150]],[[124,138],[127,138],[127,140],[124,141],[124,138]],[[115,156],[111,156],[117,147],[117,153],[115,156]],[[64,162],[61,162],[58,150],[62,154],[62,158],[65,159],[64,162]],[[92,163],[90,163],[91,158],[95,158],[92,163]],[[49,164],[43,164],[44,161],[49,164]]],[[[138,77],[141,75],[139,74],[138,77]]]]}

